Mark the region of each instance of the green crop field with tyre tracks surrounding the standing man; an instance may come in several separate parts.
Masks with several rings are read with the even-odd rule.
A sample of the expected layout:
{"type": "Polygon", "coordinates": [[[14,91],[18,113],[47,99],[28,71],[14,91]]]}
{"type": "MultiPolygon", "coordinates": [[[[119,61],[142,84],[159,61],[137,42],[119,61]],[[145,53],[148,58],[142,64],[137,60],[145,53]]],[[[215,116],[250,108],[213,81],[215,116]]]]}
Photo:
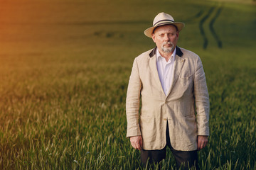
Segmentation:
{"type": "MultiPolygon", "coordinates": [[[[256,169],[255,1],[0,0],[0,169],[142,169],[126,138],[134,57],[164,11],[203,62],[200,169],[256,169]]],[[[168,150],[163,169],[175,166],[168,150]]]]}

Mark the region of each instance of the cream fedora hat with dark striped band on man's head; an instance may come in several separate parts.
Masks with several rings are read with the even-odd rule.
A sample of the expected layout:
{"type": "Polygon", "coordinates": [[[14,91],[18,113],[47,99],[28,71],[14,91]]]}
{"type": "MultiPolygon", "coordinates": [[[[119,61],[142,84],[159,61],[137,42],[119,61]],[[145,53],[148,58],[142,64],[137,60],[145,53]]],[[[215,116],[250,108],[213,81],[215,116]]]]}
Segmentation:
{"type": "Polygon", "coordinates": [[[185,26],[185,23],[175,22],[174,18],[172,16],[170,16],[167,13],[161,12],[161,13],[157,14],[157,16],[154,18],[153,26],[150,28],[147,28],[144,31],[144,34],[147,37],[151,38],[152,37],[151,35],[156,27],[170,25],[170,24],[176,26],[178,31],[181,31],[182,28],[184,28],[184,26],[185,26]]]}

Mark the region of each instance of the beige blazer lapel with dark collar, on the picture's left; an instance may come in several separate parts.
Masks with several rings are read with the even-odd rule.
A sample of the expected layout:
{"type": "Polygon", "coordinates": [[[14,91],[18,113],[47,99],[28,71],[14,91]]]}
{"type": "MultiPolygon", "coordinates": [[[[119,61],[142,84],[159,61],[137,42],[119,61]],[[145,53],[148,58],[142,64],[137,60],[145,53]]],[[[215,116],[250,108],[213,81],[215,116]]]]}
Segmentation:
{"type": "MultiPolygon", "coordinates": [[[[152,52],[149,54],[149,69],[151,74],[154,77],[154,80],[156,81],[156,85],[159,87],[159,89],[161,89],[161,91],[164,94],[164,90],[161,86],[161,81],[159,79],[159,74],[157,71],[157,67],[156,67],[156,47],[154,48],[154,50],[152,50],[152,52]]],[[[164,94],[165,96],[165,94],[164,94]]]]}

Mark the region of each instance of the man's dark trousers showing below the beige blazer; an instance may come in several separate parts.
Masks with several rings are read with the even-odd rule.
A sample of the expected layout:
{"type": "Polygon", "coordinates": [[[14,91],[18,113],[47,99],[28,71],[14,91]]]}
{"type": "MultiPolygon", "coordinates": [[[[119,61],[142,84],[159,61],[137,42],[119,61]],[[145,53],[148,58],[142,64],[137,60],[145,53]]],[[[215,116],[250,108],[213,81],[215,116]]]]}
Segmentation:
{"type": "MultiPolygon", "coordinates": [[[[171,149],[176,162],[176,169],[188,169],[189,167],[195,166],[198,169],[198,154],[195,151],[178,151],[171,147],[171,141],[169,136],[169,128],[167,123],[166,128],[166,146],[171,149]]],[[[141,152],[142,164],[145,167],[146,162],[149,159],[149,164],[158,164],[161,160],[166,158],[166,147],[160,150],[144,150],[141,152]]]]}

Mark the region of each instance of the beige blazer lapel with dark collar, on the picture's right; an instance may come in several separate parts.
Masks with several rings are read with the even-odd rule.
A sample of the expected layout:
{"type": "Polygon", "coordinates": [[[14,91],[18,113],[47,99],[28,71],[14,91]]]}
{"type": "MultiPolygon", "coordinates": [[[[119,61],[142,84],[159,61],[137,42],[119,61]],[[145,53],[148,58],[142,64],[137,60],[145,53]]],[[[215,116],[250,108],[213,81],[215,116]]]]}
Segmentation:
{"type": "Polygon", "coordinates": [[[181,73],[181,69],[185,62],[185,59],[181,57],[182,55],[183,55],[183,52],[181,52],[181,49],[179,47],[176,47],[176,56],[174,61],[174,78],[172,79],[172,82],[171,82],[171,88],[169,90],[169,94],[166,97],[168,97],[171,94],[171,91],[174,88],[176,81],[178,80],[178,76],[181,73]]]}

